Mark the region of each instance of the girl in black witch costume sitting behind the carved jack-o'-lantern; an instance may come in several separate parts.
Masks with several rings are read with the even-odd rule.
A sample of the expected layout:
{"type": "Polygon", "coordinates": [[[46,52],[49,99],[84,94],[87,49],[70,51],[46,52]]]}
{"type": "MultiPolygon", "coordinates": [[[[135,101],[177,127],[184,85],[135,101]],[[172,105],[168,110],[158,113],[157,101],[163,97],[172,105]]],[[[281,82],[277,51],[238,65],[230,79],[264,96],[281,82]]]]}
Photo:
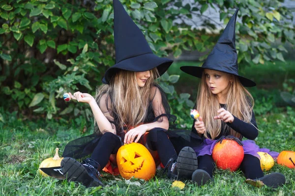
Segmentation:
{"type": "Polygon", "coordinates": [[[184,147],[177,156],[166,133],[172,117],[170,107],[154,82],[173,61],[155,56],[119,0],[113,0],[113,4],[116,65],[106,71],[105,84],[97,89],[96,98],[69,93],[71,98],[89,104],[96,130],[66,145],[61,171],[69,181],[87,187],[102,186],[99,172],[110,155],[116,154],[122,143],[142,142],[150,150],[157,150],[168,177],[190,178],[197,169],[196,154],[184,147]],[[82,163],[76,160],[89,154],[90,158],[82,163]]]}

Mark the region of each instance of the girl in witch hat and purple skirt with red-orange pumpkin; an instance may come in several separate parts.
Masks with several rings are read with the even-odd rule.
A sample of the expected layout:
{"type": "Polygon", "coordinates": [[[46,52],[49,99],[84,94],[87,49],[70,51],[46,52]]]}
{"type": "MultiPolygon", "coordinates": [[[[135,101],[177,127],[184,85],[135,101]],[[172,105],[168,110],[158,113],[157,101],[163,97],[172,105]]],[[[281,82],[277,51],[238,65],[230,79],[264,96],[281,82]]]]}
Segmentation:
{"type": "MultiPolygon", "coordinates": [[[[227,138],[236,140],[244,148],[240,169],[247,179],[252,179],[247,182],[256,185],[256,181],[260,180],[266,186],[276,188],[285,183],[285,176],[281,173],[264,175],[257,154],[261,149],[254,141],[250,141],[258,136],[258,127],[253,112],[254,100],[244,87],[256,84],[238,75],[235,44],[237,12],[238,9],[202,67],[180,68],[185,73],[201,78],[195,106],[200,117],[199,121],[194,121],[192,132],[204,137],[204,145],[194,148],[199,166],[193,173],[192,180],[203,185],[212,179],[215,167],[211,157],[213,147],[227,138]],[[250,140],[241,142],[243,137],[250,140]]],[[[270,153],[272,156],[277,154],[270,153]]]]}

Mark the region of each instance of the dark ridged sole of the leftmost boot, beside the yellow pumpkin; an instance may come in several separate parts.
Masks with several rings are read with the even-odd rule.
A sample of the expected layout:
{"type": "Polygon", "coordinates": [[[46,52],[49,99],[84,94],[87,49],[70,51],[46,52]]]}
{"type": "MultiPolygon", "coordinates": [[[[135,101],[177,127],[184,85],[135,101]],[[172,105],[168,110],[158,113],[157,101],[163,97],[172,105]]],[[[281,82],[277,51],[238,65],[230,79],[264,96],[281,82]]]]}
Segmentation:
{"type": "Polygon", "coordinates": [[[68,181],[80,182],[86,187],[101,186],[87,172],[85,167],[73,158],[66,157],[60,163],[61,172],[68,181]]]}

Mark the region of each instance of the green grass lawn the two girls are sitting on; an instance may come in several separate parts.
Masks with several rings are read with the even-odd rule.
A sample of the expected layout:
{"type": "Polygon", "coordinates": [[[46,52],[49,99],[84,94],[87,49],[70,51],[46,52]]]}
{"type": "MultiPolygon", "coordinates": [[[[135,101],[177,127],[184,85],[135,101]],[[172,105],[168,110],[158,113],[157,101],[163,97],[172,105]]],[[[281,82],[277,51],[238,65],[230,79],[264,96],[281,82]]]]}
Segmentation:
{"type": "MultiPolygon", "coordinates": [[[[271,150],[295,150],[295,108],[275,109],[277,113],[269,113],[257,117],[260,132],[256,143],[260,147],[271,150]]],[[[2,112],[3,114],[3,112],[2,112]]],[[[261,189],[244,183],[241,172],[217,170],[214,181],[203,187],[197,187],[190,181],[185,188],[172,188],[171,180],[156,177],[148,182],[138,179],[126,181],[121,177],[103,172],[105,188],[86,189],[74,182],[42,177],[38,166],[42,160],[52,157],[56,147],[60,154],[66,143],[82,135],[82,128],[74,121],[62,122],[29,122],[18,120],[16,114],[6,114],[6,124],[0,124],[0,195],[133,195],[133,196],[175,196],[175,195],[206,195],[206,196],[270,196],[295,195],[295,170],[278,164],[269,172],[281,172],[286,176],[287,183],[272,190],[261,189]],[[8,120],[9,119],[9,120],[8,120]],[[72,124],[72,125],[68,125],[72,124]],[[140,186],[136,185],[140,183],[140,186]]],[[[188,121],[190,121],[188,117],[188,121]]],[[[85,134],[91,133],[89,126],[85,134]]],[[[268,173],[268,172],[267,172],[268,173]]]]}

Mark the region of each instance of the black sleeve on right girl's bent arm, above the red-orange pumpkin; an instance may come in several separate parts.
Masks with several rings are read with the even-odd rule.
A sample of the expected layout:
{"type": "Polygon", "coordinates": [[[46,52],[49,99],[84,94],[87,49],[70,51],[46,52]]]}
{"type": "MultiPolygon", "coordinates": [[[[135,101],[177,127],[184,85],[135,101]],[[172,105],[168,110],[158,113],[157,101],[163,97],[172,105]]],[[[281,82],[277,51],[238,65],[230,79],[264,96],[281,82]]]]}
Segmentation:
{"type": "Polygon", "coordinates": [[[243,137],[245,137],[249,140],[255,140],[255,138],[257,138],[257,136],[258,136],[258,127],[256,124],[255,115],[254,115],[253,111],[252,111],[251,123],[255,127],[252,124],[246,123],[234,116],[234,122],[233,123],[226,123],[226,124],[229,125],[236,132],[240,133],[243,137]]]}

